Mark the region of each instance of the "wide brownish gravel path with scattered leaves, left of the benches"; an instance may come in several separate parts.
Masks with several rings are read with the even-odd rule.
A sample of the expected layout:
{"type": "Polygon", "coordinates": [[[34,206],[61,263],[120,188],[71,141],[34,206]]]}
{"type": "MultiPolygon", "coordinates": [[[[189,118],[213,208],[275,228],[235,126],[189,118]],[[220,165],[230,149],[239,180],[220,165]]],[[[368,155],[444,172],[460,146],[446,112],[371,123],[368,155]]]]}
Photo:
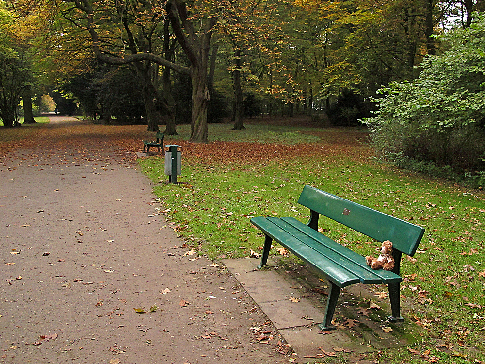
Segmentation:
{"type": "MultiPolygon", "coordinates": [[[[46,128],[89,130],[64,120],[46,128]]],[[[156,215],[136,164],[53,142],[0,159],[0,363],[290,362],[227,269],[156,215]]]]}

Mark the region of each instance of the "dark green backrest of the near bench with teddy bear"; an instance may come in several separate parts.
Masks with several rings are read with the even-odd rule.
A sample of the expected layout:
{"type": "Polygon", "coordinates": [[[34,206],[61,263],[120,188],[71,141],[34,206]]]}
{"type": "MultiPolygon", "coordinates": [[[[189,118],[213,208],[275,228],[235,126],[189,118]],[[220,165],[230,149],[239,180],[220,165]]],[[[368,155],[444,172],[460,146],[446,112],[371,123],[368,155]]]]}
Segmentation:
{"type": "Polygon", "coordinates": [[[310,186],[303,188],[298,203],[379,242],[390,240],[394,249],[410,256],[424,234],[420,226],[310,186]]]}

